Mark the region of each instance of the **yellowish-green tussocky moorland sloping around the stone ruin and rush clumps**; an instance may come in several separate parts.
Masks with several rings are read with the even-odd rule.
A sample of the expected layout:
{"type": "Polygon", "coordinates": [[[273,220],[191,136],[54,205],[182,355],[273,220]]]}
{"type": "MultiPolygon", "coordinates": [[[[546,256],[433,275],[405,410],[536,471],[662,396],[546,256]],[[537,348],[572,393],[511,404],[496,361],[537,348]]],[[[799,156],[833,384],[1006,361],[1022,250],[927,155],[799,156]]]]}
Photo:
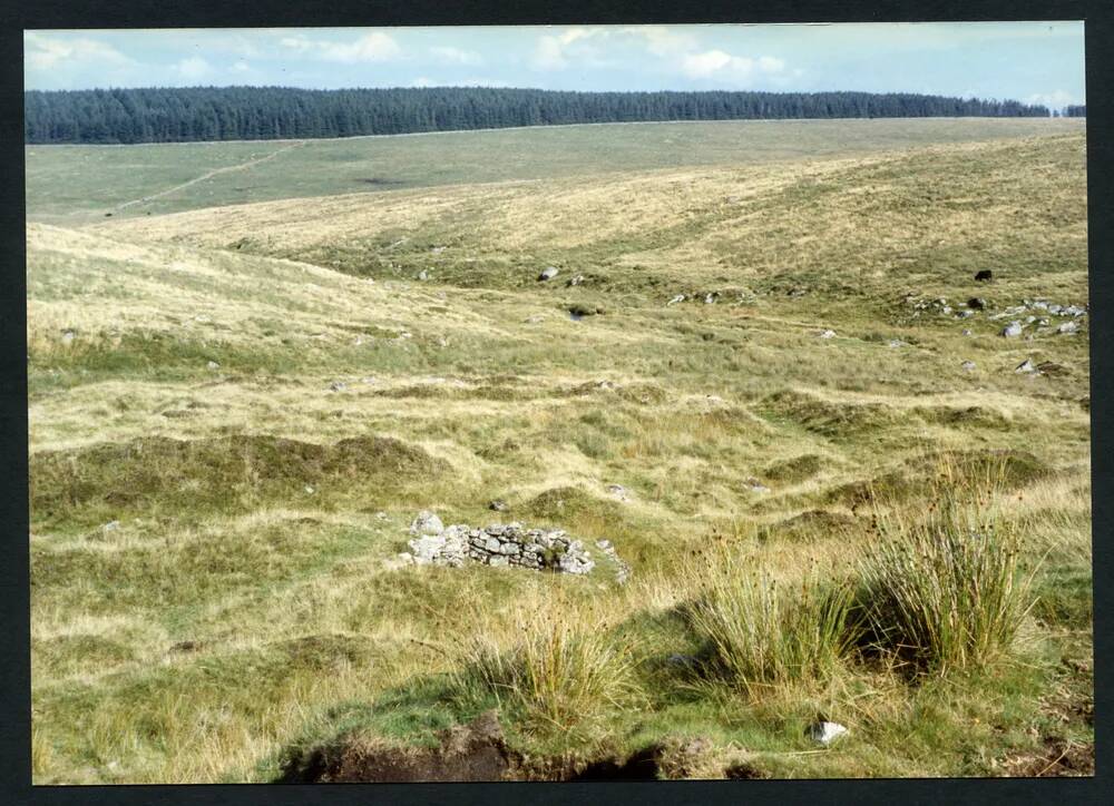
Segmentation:
{"type": "MultiPolygon", "coordinates": [[[[661,775],[1087,769],[1087,317],[1008,313],[1087,302],[1084,139],[983,142],[1003,121],[974,121],[945,145],[941,124],[897,151],[802,137],[751,161],[724,145],[703,165],[30,224],[36,782],[272,780],[492,707],[516,751],[573,766],[664,744],[661,775]],[[987,475],[979,517],[1019,541],[1038,597],[994,662],[910,676],[841,653],[758,689],[693,672],[719,635],[707,602],[746,590],[731,574],[853,576],[931,521],[941,484],[987,475]],[[607,539],[633,574],[404,567],[420,509],[607,539]],[[575,691],[492,682],[549,639],[584,664],[545,667],[575,691]],[[851,734],[817,753],[821,715],[851,734]]],[[[654,129],[624,127],[629,151],[654,129]]],[[[204,206],[203,187],[159,204],[204,206]]]]}

